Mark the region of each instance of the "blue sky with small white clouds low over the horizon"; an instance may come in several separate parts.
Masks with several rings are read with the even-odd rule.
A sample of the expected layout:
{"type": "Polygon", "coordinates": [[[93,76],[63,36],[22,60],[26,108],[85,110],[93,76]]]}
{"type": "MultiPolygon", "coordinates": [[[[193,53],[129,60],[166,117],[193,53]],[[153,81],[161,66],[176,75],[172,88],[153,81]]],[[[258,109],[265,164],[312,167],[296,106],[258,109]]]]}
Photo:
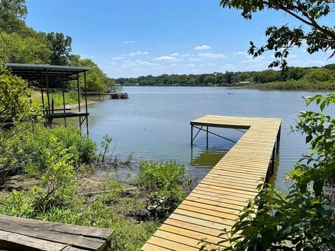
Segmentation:
{"type": "MultiPolygon", "coordinates": [[[[93,59],[109,77],[264,70],[273,57],[248,56],[249,41],[262,45],[267,26],[300,25],[274,11],[246,21],[219,0],[27,0],[27,6],[29,26],[71,36],[73,53],[93,59]]],[[[289,65],[335,63],[305,50],[293,50],[289,65]]]]}

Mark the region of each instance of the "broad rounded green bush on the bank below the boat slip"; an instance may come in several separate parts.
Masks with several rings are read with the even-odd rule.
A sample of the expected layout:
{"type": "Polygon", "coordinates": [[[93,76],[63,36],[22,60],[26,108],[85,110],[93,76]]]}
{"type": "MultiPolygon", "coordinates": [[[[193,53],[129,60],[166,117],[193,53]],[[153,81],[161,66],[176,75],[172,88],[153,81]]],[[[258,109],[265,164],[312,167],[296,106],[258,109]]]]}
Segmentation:
{"type": "Polygon", "coordinates": [[[77,168],[94,160],[96,154],[96,144],[91,138],[82,136],[77,128],[59,127],[50,130],[35,126],[34,132],[25,131],[14,135],[3,146],[0,169],[41,174],[52,165],[53,155],[58,154],[60,149],[68,151],[77,168]]]}

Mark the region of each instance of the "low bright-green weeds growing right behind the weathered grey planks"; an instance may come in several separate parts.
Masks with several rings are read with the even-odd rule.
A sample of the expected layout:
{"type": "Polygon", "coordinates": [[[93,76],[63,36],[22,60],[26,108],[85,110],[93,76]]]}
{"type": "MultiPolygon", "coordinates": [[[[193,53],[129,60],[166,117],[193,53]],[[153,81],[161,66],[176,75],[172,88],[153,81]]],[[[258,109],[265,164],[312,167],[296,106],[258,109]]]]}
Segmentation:
{"type": "Polygon", "coordinates": [[[115,251],[140,250],[147,239],[158,229],[158,222],[137,222],[128,218],[126,212],[119,212],[120,208],[124,211],[131,210],[132,205],[137,201],[137,197],[120,196],[124,185],[119,181],[109,180],[103,184],[105,189],[110,190],[108,193],[97,195],[94,198],[80,197],[73,193],[73,190],[66,191],[69,188],[64,185],[64,182],[77,184],[73,183],[72,175],[67,175],[64,168],[68,169],[63,164],[54,165],[48,174],[45,174],[45,178],[49,182],[54,181],[59,184],[55,189],[55,195],[65,192],[68,195],[66,198],[54,196],[52,204],[43,203],[43,198],[47,194],[45,185],[40,188],[31,188],[27,194],[24,191],[13,190],[0,195],[0,214],[114,229],[112,243],[115,251]],[[62,188],[61,184],[65,188],[62,188]]]}

